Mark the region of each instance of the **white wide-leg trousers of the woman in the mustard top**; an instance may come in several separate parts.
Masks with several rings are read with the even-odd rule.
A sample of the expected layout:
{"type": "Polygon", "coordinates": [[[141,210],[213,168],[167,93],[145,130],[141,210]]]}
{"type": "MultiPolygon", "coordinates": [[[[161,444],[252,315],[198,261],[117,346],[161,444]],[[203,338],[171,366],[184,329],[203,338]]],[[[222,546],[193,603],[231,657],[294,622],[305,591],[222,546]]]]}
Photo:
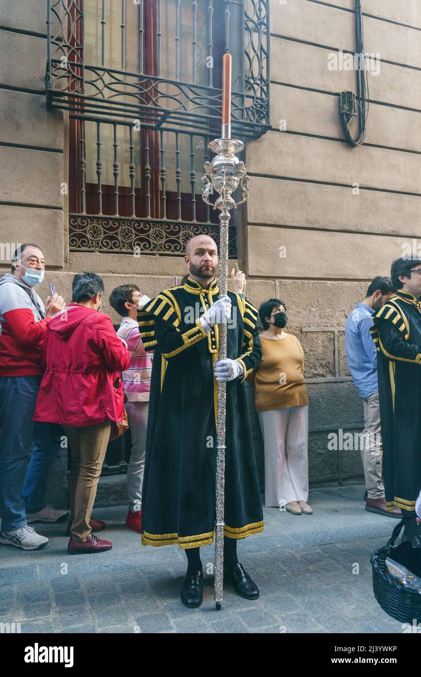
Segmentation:
{"type": "Polygon", "coordinates": [[[257,412],[264,440],[265,505],[308,498],[308,404],[257,412]]]}

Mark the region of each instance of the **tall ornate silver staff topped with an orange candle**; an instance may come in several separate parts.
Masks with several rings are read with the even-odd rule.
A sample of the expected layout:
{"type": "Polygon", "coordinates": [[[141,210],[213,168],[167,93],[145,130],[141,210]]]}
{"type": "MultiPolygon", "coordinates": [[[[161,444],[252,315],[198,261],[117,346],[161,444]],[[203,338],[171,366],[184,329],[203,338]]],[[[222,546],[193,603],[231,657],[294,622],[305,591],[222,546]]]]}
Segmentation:
{"type": "MultiPolygon", "coordinates": [[[[235,156],[244,148],[243,141],[231,139],[230,125],[230,72],[231,56],[224,54],[223,64],[223,95],[222,95],[222,138],[211,141],[207,148],[216,153],[211,162],[205,162],[205,176],[202,198],[206,204],[219,209],[220,220],[220,280],[219,297],[227,295],[228,289],[228,221],[230,210],[237,209],[249,196],[247,170],[245,163],[235,156]],[[229,70],[228,70],[229,69],[229,70]],[[229,78],[229,79],[228,79],[229,78]],[[227,85],[229,82],[229,87],[227,85]],[[228,93],[227,93],[228,90],[228,93]],[[225,96],[224,96],[225,95],[225,96]],[[226,103],[228,100],[228,104],[226,103]],[[227,113],[228,110],[228,113],[227,113]],[[237,190],[240,183],[243,190],[243,199],[235,202],[231,194],[237,190]],[[209,202],[209,192],[212,187],[220,194],[215,204],[209,202]]],[[[226,322],[219,325],[218,359],[226,359],[226,322]]],[[[215,539],[215,606],[218,611],[222,607],[224,592],[224,484],[225,484],[225,414],[226,414],[226,383],[218,383],[217,419],[216,419],[216,539],[215,539]]]]}

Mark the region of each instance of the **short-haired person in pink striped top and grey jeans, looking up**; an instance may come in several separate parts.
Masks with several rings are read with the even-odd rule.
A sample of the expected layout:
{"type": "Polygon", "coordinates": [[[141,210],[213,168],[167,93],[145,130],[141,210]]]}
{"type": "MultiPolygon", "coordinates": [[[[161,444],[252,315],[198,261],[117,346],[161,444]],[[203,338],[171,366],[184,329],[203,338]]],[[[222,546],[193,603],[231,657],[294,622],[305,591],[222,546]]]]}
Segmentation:
{"type": "Polygon", "coordinates": [[[149,390],[151,387],[152,355],[146,352],[139,334],[137,310],[150,301],[136,284],[116,287],[109,297],[114,310],[122,315],[118,336],[127,343],[130,364],[123,372],[125,404],[132,450],[127,468],[128,513],[126,527],[139,531],[142,527],[142,484],[145,470],[145,445],[149,390]]]}

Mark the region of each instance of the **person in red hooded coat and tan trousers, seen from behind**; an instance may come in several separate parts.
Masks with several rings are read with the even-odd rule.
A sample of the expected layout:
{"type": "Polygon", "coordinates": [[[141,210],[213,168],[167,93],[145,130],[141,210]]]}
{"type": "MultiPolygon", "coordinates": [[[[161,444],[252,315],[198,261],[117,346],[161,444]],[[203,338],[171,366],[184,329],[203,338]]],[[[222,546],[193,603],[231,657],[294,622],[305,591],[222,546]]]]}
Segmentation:
{"type": "Polygon", "coordinates": [[[64,427],[72,468],[69,475],[71,521],[69,552],[102,552],[110,541],[93,536],[105,523],[91,520],[111,422],[124,416],[120,372],[130,354],[111,319],[100,313],[103,281],[95,273],[75,275],[72,303],[47,325],[41,362],[45,373],[34,420],[64,427]]]}

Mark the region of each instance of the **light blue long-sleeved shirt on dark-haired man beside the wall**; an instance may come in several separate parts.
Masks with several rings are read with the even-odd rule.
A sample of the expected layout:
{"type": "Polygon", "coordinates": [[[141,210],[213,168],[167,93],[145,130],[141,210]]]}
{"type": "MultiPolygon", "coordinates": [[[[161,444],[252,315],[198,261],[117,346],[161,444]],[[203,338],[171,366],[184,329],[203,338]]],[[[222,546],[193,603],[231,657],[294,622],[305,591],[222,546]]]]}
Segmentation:
{"type": "Polygon", "coordinates": [[[374,310],[357,303],[345,324],[345,351],[352,380],[361,397],[378,391],[377,352],[370,334],[374,310]]]}

